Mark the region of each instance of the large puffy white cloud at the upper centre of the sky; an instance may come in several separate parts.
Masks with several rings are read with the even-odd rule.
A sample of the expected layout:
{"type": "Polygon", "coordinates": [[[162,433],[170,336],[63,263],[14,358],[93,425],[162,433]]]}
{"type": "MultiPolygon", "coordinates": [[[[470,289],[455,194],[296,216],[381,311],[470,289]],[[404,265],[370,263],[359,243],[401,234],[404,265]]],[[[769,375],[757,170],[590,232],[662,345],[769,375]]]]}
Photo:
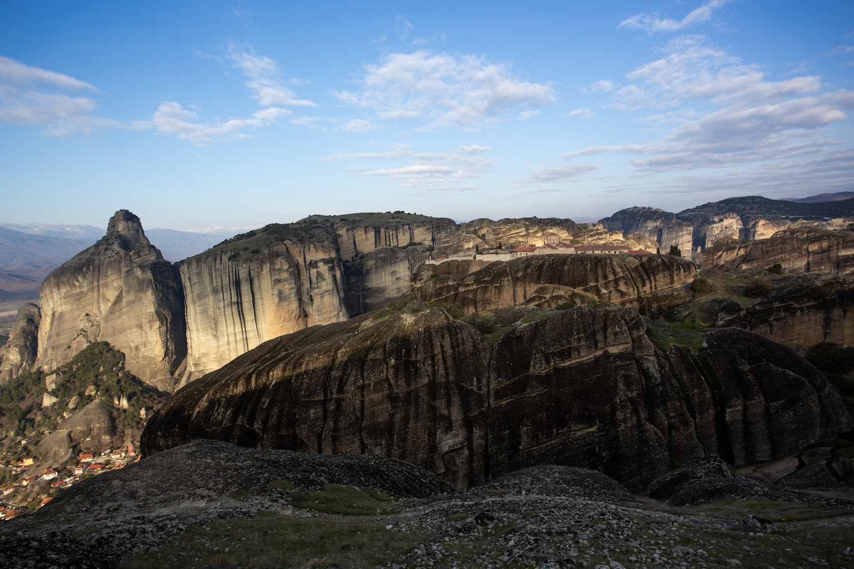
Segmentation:
{"type": "Polygon", "coordinates": [[[344,103],[374,109],[383,119],[419,119],[430,127],[477,130],[509,109],[555,100],[549,85],[512,78],[483,57],[418,50],[393,53],[366,66],[360,91],[335,91],[344,103]]]}

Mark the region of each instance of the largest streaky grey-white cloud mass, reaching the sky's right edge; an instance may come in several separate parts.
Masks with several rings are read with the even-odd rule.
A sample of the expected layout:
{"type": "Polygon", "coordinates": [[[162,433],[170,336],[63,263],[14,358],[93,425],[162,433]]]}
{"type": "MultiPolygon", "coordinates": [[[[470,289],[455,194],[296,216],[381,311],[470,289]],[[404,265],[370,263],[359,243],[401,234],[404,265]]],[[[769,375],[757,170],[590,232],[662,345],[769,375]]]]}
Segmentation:
{"type": "MultiPolygon", "coordinates": [[[[670,108],[640,119],[675,126],[664,138],[646,144],[569,152],[564,155],[566,173],[574,175],[587,166],[576,163],[582,156],[621,153],[636,156],[631,164],[640,173],[715,168],[715,179],[746,180],[747,174],[734,172],[750,172],[791,189],[793,180],[815,172],[809,165],[822,155],[851,152],[851,143],[828,129],[848,120],[854,92],[822,92],[821,79],[814,75],[766,80],[761,68],[741,62],[705,38],[676,38],[664,57],[635,68],[626,77],[632,83],[612,92],[611,107],[670,108]],[[581,168],[576,171],[574,166],[581,168]]],[[[840,161],[822,164],[833,170],[828,170],[827,179],[843,179],[850,170],[840,161]]],[[[550,181],[561,172],[543,168],[533,179],[550,181]]]]}

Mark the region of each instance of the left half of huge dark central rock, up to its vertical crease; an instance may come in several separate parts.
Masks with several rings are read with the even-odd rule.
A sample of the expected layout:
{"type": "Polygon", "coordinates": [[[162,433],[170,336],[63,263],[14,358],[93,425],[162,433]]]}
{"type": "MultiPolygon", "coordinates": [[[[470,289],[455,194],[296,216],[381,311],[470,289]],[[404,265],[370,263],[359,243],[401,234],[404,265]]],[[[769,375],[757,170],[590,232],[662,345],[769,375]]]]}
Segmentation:
{"type": "Polygon", "coordinates": [[[215,438],[386,455],[452,484],[482,481],[488,353],[477,330],[438,309],[313,326],[179,390],[149,421],[145,445],[215,438]]]}

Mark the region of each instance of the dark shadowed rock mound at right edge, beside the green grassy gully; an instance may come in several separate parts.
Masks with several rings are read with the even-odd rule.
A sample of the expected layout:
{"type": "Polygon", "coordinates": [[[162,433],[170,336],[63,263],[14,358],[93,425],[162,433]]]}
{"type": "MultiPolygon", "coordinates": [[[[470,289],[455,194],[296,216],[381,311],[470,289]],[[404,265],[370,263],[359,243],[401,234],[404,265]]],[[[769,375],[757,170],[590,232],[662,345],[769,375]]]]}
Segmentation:
{"type": "Polygon", "coordinates": [[[716,326],[756,331],[801,355],[820,343],[854,347],[854,278],[803,273],[779,279],[756,304],[719,314],[716,326]]]}

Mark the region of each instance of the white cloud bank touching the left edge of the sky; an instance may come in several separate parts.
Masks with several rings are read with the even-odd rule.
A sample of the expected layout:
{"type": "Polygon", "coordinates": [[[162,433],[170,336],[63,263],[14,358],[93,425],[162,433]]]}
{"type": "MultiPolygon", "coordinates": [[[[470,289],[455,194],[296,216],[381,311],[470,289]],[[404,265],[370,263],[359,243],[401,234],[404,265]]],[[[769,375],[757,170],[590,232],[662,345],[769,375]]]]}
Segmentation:
{"type": "Polygon", "coordinates": [[[76,95],[79,91],[97,89],[69,75],[0,56],[0,120],[3,122],[42,126],[45,134],[54,136],[120,126],[114,120],[93,115],[97,103],[90,97],[76,95]],[[69,91],[73,94],[68,94],[69,91]]]}

